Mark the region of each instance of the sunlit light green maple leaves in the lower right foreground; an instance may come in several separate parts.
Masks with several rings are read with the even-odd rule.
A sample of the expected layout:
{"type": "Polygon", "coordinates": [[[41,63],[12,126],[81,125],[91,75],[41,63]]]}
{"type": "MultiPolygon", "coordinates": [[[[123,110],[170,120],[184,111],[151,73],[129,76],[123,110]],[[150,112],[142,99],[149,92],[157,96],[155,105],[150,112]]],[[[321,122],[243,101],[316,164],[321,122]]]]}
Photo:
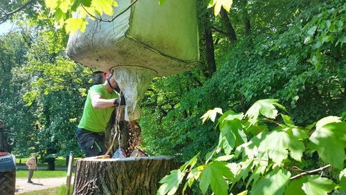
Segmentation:
{"type": "MultiPolygon", "coordinates": [[[[161,188],[165,187],[165,191],[159,190],[158,194],[175,190],[183,176],[187,176],[185,186],[191,187],[198,181],[203,194],[209,187],[214,194],[327,194],[339,183],[344,186],[346,122],[331,116],[318,120],[314,125],[316,129],[310,130],[275,121],[281,116],[275,106],[285,110],[277,100],[259,100],[240,120],[239,117],[229,117],[230,112],[221,115],[218,121],[220,140],[226,137],[222,131],[242,131],[245,132],[243,136],[235,136],[233,142],[218,145],[201,165],[196,164],[198,155],[191,158],[161,180],[161,188]],[[239,125],[225,125],[228,122],[235,122],[240,128],[239,125]],[[254,127],[257,136],[250,131],[254,127]],[[239,138],[239,146],[234,147],[239,138]],[[339,178],[322,177],[319,172],[325,167],[313,169],[303,165],[304,161],[312,160],[309,154],[316,150],[320,160],[329,163],[336,174],[340,174],[339,178]],[[242,183],[246,183],[246,187],[242,183]]],[[[210,116],[204,115],[203,120],[206,118],[210,116]]],[[[342,191],[345,189],[341,187],[342,191]]]]}

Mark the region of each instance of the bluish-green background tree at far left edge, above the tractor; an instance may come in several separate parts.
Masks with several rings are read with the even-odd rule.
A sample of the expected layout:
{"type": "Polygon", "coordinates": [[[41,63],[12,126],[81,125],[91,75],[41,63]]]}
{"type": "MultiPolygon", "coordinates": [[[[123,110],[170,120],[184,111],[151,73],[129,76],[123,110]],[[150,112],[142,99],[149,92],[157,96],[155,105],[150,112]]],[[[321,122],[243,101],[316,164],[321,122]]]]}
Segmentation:
{"type": "Polygon", "coordinates": [[[26,42],[24,36],[19,32],[1,35],[0,44],[0,118],[17,133],[17,137],[23,138],[21,142],[16,142],[17,148],[23,149],[19,152],[19,158],[30,154],[29,148],[34,145],[31,137],[33,133],[29,130],[33,128],[33,115],[21,97],[22,91],[26,89],[21,84],[28,86],[28,82],[24,82],[21,73],[12,71],[26,62],[25,55],[30,43],[26,42]]]}

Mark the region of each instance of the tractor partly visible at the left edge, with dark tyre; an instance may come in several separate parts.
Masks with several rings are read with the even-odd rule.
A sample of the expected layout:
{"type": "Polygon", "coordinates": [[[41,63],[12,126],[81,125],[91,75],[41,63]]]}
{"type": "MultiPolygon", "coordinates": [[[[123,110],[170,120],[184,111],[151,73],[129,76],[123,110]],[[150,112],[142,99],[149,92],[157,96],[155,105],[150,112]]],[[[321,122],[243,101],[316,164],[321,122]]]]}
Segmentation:
{"type": "Polygon", "coordinates": [[[0,120],[0,193],[15,194],[16,189],[16,160],[10,154],[15,143],[15,134],[5,129],[0,120]]]}

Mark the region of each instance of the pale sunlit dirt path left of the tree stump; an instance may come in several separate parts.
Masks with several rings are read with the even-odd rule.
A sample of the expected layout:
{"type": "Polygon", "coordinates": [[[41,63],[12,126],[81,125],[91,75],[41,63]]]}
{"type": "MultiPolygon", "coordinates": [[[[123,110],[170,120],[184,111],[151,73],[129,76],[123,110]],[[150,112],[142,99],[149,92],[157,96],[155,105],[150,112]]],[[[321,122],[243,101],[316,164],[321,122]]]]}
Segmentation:
{"type": "MultiPolygon", "coordinates": [[[[71,178],[71,184],[73,184],[73,177],[71,178]]],[[[33,183],[27,183],[26,178],[16,179],[16,191],[15,194],[22,194],[24,192],[31,192],[39,189],[46,189],[51,187],[60,187],[66,184],[66,177],[64,178],[33,178],[33,183]]]]}

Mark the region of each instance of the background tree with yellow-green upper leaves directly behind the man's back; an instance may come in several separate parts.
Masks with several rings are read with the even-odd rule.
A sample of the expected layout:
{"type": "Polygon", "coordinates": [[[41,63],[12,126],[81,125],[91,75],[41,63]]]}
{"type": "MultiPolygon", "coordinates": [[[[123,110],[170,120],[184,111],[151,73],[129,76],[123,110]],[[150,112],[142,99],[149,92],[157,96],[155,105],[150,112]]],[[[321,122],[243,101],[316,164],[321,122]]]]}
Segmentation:
{"type": "Polygon", "coordinates": [[[53,34],[39,32],[38,35],[29,50],[26,66],[19,71],[31,76],[30,90],[24,93],[24,100],[37,115],[37,149],[48,162],[48,169],[55,169],[57,156],[68,156],[70,151],[80,154],[74,134],[86,89],[91,86],[87,77],[91,70],[69,61],[61,50],[56,52],[56,48],[51,48],[54,44],[50,41],[54,39],[49,36],[53,34]]]}

